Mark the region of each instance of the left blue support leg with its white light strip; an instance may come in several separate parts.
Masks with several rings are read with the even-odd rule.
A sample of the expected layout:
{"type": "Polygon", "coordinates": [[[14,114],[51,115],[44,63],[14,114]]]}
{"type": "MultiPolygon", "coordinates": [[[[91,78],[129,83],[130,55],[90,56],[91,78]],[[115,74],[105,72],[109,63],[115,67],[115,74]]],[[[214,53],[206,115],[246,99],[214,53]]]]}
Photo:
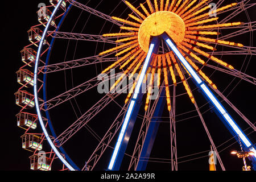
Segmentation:
{"type": "Polygon", "coordinates": [[[142,93],[141,93],[142,82],[143,82],[144,76],[146,75],[148,65],[150,65],[150,61],[152,60],[152,53],[155,53],[156,51],[158,51],[158,48],[159,48],[159,37],[154,37],[150,44],[147,57],[144,61],[142,72],[141,72],[141,75],[139,76],[138,83],[135,87],[133,97],[131,98],[130,104],[128,106],[125,119],[121,127],[121,131],[118,135],[117,143],[115,144],[114,151],[109,162],[109,166],[108,166],[109,170],[117,171],[121,166],[123,155],[125,153],[127,144],[129,142],[131,131],[133,130],[133,126],[134,126],[133,123],[137,118],[139,107],[141,106],[141,103],[139,103],[138,100],[141,99],[142,97],[142,93]]]}

